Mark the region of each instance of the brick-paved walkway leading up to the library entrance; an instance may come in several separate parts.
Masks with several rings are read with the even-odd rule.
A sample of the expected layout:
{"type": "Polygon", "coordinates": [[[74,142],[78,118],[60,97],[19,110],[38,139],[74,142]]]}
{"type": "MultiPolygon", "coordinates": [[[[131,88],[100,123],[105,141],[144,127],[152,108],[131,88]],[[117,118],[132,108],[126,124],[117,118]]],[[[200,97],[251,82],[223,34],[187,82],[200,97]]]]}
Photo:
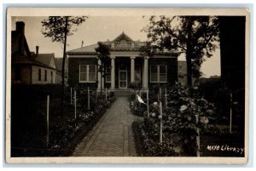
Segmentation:
{"type": "Polygon", "coordinates": [[[79,144],[73,157],[135,157],[128,97],[117,97],[96,127],[79,144]]]}

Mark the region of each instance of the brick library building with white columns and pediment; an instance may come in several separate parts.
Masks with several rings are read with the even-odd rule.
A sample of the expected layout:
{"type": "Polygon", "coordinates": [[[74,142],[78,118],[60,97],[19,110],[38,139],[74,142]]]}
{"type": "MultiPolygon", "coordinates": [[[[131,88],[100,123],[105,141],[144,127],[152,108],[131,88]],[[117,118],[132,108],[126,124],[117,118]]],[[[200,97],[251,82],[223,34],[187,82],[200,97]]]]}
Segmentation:
{"type": "MultiPolygon", "coordinates": [[[[146,43],[133,41],[124,32],[113,41],[104,43],[111,48],[111,63],[105,78],[107,88],[129,88],[129,83],[140,82],[143,89],[148,89],[158,83],[177,81],[177,53],[158,53],[150,58],[142,56],[139,48],[146,43]]],[[[71,86],[100,88],[101,79],[98,78],[101,74],[97,71],[100,60],[97,60],[95,50],[97,47],[97,44],[92,44],[67,52],[68,83],[71,86]]]]}

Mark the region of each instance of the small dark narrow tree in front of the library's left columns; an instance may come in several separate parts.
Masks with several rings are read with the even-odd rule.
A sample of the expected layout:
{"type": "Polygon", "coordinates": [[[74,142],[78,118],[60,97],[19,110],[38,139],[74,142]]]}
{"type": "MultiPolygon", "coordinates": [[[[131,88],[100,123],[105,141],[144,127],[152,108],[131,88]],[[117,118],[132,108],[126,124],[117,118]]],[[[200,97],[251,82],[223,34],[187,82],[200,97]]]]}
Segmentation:
{"type": "MultiPolygon", "coordinates": [[[[101,60],[101,65],[99,66],[99,72],[101,72],[101,80],[104,78],[104,85],[106,84],[107,69],[110,64],[110,47],[104,43],[98,42],[98,47],[95,48],[98,60],[101,60]]],[[[102,82],[101,82],[101,95],[102,95],[102,82]]]]}

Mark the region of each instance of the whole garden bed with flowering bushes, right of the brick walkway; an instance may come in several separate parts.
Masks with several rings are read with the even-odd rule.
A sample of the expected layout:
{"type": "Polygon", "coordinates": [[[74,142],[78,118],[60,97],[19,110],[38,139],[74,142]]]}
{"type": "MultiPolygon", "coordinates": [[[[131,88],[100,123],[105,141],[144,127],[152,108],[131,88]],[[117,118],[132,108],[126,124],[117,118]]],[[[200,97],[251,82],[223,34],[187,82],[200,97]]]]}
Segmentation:
{"type": "MultiPolygon", "coordinates": [[[[215,105],[196,91],[176,83],[167,93],[162,92],[158,101],[149,100],[149,112],[143,103],[131,101],[131,111],[143,117],[141,122],[132,125],[138,156],[244,157],[241,127],[233,125],[232,134],[221,127],[215,105]]],[[[143,94],[141,98],[147,101],[143,94]]]]}

